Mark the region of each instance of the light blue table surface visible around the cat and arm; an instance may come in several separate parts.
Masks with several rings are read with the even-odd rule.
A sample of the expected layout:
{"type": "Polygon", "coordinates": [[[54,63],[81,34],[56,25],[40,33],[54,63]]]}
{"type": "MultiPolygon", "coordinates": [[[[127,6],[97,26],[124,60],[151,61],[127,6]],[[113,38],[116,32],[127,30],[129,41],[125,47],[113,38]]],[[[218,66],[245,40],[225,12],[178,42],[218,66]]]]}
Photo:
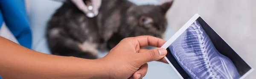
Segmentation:
{"type": "MultiPolygon", "coordinates": [[[[54,11],[61,6],[60,2],[52,0],[30,0],[29,20],[32,28],[33,43],[32,49],[42,53],[49,54],[47,42],[45,38],[46,24],[54,11]]],[[[160,4],[157,0],[131,0],[137,4],[160,4]],[[147,2],[145,2],[147,1],[147,2]]],[[[165,40],[168,40],[173,35],[172,27],[169,25],[165,40]]],[[[105,56],[106,53],[100,53],[100,56],[105,56]]],[[[180,79],[177,73],[170,65],[160,62],[149,62],[148,73],[144,79],[180,79]]]]}

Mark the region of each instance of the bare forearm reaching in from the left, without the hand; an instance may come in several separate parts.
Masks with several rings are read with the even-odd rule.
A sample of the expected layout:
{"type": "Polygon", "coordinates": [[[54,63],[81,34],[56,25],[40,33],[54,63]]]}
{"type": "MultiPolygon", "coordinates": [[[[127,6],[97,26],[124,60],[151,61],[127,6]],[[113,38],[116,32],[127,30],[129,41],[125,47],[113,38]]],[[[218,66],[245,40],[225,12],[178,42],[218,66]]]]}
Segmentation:
{"type": "Polygon", "coordinates": [[[98,60],[43,54],[0,37],[0,74],[5,79],[103,77],[100,66],[98,60]]]}

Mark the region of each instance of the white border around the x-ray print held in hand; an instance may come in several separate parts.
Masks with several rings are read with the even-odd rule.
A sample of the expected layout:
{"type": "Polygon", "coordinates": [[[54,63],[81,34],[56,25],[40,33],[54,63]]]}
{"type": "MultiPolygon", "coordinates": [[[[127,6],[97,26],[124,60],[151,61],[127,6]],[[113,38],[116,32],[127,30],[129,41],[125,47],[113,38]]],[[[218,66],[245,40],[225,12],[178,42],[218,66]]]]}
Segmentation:
{"type": "MultiPolygon", "coordinates": [[[[187,28],[189,28],[189,26],[195,22],[195,20],[197,20],[200,17],[199,14],[195,14],[187,23],[185,23],[185,25],[183,25],[161,48],[168,48],[172,42],[174,42],[184,31],[186,31],[187,28]]],[[[203,19],[204,20],[204,19],[203,19]]],[[[207,23],[208,24],[208,23],[207,23]]],[[[210,25],[209,25],[210,26],[210,25]]],[[[222,38],[222,37],[221,37],[222,38]]],[[[223,38],[222,38],[223,39],[223,38]]],[[[224,40],[225,41],[225,40],[224,40]]],[[[226,42],[226,41],[225,41],[226,42]]],[[[241,56],[240,56],[241,57],[241,56]]],[[[164,57],[167,62],[169,63],[169,65],[172,66],[172,68],[174,69],[174,71],[180,76],[181,79],[183,79],[183,77],[180,75],[180,73],[176,70],[176,68],[172,65],[172,63],[167,59],[167,57],[164,57]]],[[[247,62],[246,62],[247,63],[247,62]]],[[[248,64],[248,63],[247,63],[248,64]]],[[[249,64],[248,64],[249,65],[249,64]]],[[[249,65],[250,66],[250,65],[249,65]]],[[[250,66],[250,71],[248,71],[247,73],[245,73],[243,76],[240,77],[240,79],[244,79],[245,76],[247,76],[248,74],[250,74],[254,69],[250,66]]]]}

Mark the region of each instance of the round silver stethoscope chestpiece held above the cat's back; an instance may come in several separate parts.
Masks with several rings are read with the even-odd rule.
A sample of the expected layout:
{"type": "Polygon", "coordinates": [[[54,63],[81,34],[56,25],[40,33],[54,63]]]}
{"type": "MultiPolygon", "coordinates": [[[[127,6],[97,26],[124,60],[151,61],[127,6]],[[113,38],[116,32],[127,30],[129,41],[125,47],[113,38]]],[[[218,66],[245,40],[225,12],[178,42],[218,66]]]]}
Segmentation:
{"type": "MultiPolygon", "coordinates": [[[[58,1],[58,2],[64,2],[65,0],[55,0],[55,1],[58,1]]],[[[93,18],[93,17],[96,17],[98,14],[99,14],[99,11],[96,10],[95,12],[93,12],[93,6],[90,5],[87,7],[88,11],[85,12],[86,16],[87,17],[90,17],[90,18],[93,18]]]]}

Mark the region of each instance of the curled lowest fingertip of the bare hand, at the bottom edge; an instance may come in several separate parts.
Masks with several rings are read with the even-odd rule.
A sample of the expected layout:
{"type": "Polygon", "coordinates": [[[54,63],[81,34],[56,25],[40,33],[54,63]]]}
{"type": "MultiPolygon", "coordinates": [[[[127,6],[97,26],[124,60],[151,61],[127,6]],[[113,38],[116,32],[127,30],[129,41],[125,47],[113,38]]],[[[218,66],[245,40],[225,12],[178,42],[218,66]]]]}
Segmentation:
{"type": "Polygon", "coordinates": [[[145,63],[131,77],[133,77],[133,79],[142,79],[146,75],[147,71],[148,71],[148,63],[145,63]]]}

